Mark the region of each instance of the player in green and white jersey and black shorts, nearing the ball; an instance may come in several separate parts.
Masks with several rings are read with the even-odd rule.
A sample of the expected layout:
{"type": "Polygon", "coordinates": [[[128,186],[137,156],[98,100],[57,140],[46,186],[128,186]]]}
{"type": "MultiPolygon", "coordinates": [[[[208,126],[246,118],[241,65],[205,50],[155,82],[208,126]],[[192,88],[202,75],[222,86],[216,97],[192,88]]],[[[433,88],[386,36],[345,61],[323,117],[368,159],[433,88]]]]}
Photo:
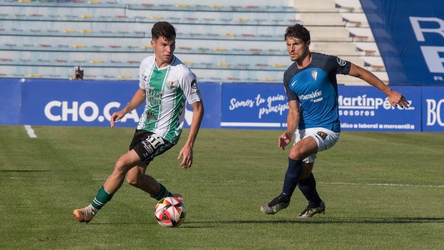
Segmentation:
{"type": "Polygon", "coordinates": [[[127,182],[149,193],[154,199],[175,196],[153,177],[146,175],[154,157],[177,144],[185,117],[185,102],[193,109],[190,134],[178,160],[185,169],[193,164],[193,146],[203,117],[203,103],[196,76],[173,55],[176,29],[168,22],[157,22],[151,29],[154,55],[145,58],[139,68],[139,89],[128,105],[111,116],[111,127],[126,114],[146,103],[129,152],[117,160],[113,173],[106,179],[90,205],[74,210],[79,222],[89,222],[127,182]]]}

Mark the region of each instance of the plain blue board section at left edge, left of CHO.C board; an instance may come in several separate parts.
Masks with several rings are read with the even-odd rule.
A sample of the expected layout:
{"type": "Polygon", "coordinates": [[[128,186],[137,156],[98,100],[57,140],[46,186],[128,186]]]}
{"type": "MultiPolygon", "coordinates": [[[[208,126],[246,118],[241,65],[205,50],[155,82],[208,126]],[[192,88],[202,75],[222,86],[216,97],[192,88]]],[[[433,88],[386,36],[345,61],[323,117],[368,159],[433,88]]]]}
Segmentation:
{"type": "Polygon", "coordinates": [[[20,124],[20,82],[12,78],[0,81],[0,125],[20,124]]]}

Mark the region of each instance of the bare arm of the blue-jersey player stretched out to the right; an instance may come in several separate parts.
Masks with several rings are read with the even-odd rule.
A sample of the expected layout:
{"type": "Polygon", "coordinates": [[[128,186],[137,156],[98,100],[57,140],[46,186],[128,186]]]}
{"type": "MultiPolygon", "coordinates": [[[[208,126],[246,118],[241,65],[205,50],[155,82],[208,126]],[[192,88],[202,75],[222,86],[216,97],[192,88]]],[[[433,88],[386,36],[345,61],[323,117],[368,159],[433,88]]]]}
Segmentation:
{"type": "Polygon", "coordinates": [[[398,91],[395,91],[385,85],[377,76],[375,76],[370,71],[363,69],[355,64],[351,64],[350,66],[350,72],[349,75],[358,77],[364,81],[366,81],[368,84],[377,87],[379,90],[384,92],[388,97],[388,102],[393,107],[396,107],[399,105],[401,108],[409,108],[409,102],[407,101],[406,97],[404,97],[401,93],[398,91]]]}

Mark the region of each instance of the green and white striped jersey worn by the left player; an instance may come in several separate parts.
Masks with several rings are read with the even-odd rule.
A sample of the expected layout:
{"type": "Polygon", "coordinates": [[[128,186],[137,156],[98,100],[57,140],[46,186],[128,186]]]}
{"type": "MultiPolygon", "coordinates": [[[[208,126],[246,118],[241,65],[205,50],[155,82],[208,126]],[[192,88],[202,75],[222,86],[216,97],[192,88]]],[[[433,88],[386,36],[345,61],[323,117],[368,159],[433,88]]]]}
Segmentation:
{"type": "Polygon", "coordinates": [[[139,67],[139,87],[145,89],[146,105],[137,129],[160,135],[177,144],[185,117],[185,101],[201,101],[196,75],[177,57],[157,68],[155,56],[143,59],[139,67]]]}

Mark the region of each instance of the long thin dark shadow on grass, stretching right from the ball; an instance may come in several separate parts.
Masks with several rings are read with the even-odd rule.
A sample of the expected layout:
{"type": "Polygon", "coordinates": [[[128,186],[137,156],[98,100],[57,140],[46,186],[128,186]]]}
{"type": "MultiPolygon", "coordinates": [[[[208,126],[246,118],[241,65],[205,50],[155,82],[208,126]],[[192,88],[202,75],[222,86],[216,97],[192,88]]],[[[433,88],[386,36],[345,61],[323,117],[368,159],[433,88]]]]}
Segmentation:
{"type": "Polygon", "coordinates": [[[188,221],[187,224],[408,224],[408,223],[444,223],[444,218],[432,217],[394,217],[394,218],[295,218],[293,220],[229,220],[229,221],[188,221]]]}

